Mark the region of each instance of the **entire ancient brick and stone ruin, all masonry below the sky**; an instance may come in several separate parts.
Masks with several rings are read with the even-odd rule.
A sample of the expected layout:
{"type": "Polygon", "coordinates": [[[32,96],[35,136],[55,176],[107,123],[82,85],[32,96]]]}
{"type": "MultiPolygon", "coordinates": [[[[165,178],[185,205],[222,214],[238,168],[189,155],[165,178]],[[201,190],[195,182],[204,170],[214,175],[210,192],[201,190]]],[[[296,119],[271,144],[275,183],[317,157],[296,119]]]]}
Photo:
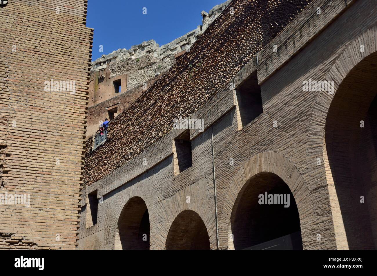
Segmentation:
{"type": "Polygon", "coordinates": [[[93,63],[86,10],[0,7],[0,249],[377,247],[375,0],[227,1],[93,63]]]}

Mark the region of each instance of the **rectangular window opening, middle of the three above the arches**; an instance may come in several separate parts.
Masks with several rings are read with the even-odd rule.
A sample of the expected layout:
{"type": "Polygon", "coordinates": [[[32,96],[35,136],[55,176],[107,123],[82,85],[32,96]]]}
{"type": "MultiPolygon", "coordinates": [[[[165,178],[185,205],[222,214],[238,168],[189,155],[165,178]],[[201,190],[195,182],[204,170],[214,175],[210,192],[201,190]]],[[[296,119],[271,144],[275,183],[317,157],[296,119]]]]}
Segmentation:
{"type": "Polygon", "coordinates": [[[192,167],[190,130],[186,130],[174,139],[173,150],[175,150],[174,174],[178,175],[192,167]]]}

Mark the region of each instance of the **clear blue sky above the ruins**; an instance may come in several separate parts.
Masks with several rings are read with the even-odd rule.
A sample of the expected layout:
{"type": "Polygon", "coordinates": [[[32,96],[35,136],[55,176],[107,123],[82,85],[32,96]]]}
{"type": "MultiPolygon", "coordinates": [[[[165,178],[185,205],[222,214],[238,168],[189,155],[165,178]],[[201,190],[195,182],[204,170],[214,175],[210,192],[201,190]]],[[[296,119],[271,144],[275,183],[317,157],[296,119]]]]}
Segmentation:
{"type": "Polygon", "coordinates": [[[89,0],[86,26],[94,28],[92,60],[118,49],[154,39],[160,46],[202,23],[225,0],[89,0]],[[143,8],[147,14],[143,14],[143,8]],[[103,45],[103,53],[99,52],[103,45]]]}

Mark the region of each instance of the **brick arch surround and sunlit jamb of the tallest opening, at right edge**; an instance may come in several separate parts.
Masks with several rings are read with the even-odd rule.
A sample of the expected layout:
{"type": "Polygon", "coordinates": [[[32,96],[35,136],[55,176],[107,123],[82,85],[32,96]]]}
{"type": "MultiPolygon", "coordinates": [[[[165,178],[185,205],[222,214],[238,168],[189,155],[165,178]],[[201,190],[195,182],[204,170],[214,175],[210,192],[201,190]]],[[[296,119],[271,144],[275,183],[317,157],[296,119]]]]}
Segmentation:
{"type": "MultiPolygon", "coordinates": [[[[329,145],[326,146],[326,136],[327,141],[330,141],[329,133],[334,130],[331,130],[330,132],[325,131],[325,126],[327,124],[326,122],[328,115],[331,115],[330,107],[333,102],[334,106],[337,104],[339,105],[340,101],[336,100],[336,98],[344,98],[344,96],[340,95],[344,93],[342,91],[349,90],[349,87],[355,84],[352,84],[352,80],[347,80],[347,76],[349,76],[349,74],[352,74],[352,70],[354,68],[357,68],[358,65],[360,66],[360,68],[365,66],[365,64],[363,65],[362,62],[363,60],[365,61],[366,58],[367,62],[368,59],[373,59],[371,55],[374,55],[374,53],[377,51],[376,47],[377,26],[368,29],[368,31],[359,35],[359,37],[351,41],[345,47],[345,49],[335,60],[333,66],[331,66],[325,77],[325,80],[334,81],[334,93],[331,94],[327,92],[319,92],[316,97],[316,103],[314,104],[314,109],[311,116],[308,143],[317,146],[312,147],[310,151],[311,154],[308,155],[308,171],[316,171],[316,178],[310,179],[309,181],[326,179],[325,185],[328,189],[331,215],[333,219],[333,231],[335,233],[336,247],[338,249],[349,249],[350,247],[343,221],[342,208],[339,202],[339,196],[342,192],[336,190],[336,184],[334,183],[333,175],[334,169],[331,169],[331,160],[329,161],[328,159],[329,148],[327,146],[329,145]],[[360,48],[360,46],[363,46],[364,52],[360,51],[360,49],[362,49],[360,48]],[[336,101],[334,101],[334,99],[336,101]],[[319,168],[316,167],[315,163],[313,162],[313,160],[316,158],[323,158],[324,166],[320,166],[319,168]]],[[[356,71],[357,70],[358,69],[356,69],[356,71]]],[[[349,96],[345,96],[345,98],[346,97],[349,96]]],[[[330,151],[333,152],[334,149],[331,149],[330,151]]],[[[333,158],[333,160],[335,159],[333,158]]],[[[311,185],[311,183],[309,184],[311,185]]],[[[351,246],[351,248],[355,247],[351,246]]]]}

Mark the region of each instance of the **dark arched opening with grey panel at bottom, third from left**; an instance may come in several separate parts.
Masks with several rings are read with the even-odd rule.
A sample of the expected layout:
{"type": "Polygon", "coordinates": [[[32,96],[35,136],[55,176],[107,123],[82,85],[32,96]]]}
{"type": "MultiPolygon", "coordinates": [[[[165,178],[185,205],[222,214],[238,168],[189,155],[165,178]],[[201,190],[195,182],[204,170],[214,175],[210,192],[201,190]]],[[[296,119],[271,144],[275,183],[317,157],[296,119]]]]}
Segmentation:
{"type": "Polygon", "coordinates": [[[239,192],[231,213],[234,249],[302,249],[300,218],[288,185],[261,172],[239,192]]]}

